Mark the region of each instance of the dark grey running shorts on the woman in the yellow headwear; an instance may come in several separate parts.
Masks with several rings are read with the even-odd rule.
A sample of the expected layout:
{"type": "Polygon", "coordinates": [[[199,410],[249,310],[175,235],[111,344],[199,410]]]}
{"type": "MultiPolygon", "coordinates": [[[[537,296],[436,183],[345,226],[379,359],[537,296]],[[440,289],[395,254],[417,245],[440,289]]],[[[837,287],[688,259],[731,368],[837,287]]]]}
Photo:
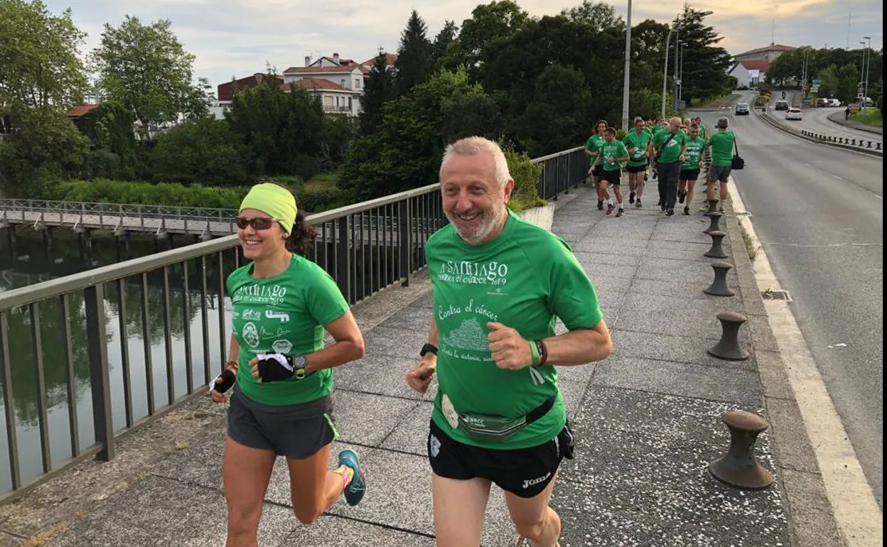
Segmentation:
{"type": "Polygon", "coordinates": [[[338,438],[332,396],[286,406],[255,402],[235,385],[228,407],[228,436],[253,449],[304,459],[338,438]]]}

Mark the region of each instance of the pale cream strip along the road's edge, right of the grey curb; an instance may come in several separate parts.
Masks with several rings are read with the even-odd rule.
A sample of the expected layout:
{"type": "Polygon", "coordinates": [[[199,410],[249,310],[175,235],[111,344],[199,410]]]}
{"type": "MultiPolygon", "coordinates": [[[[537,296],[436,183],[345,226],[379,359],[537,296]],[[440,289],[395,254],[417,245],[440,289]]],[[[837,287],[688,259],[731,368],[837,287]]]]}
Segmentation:
{"type": "MultiPolygon", "coordinates": [[[[736,215],[746,215],[745,204],[735,184],[729,184],[736,215]]],[[[780,291],[779,280],[773,274],[770,260],[760,245],[751,221],[745,231],[757,246],[752,266],[758,290],[780,291]]],[[[820,370],[813,361],[810,348],[797,326],[788,302],[764,301],[767,320],[779,346],[782,362],[795,392],[816,461],[822,473],[828,501],[844,541],[849,547],[867,547],[883,544],[883,518],[872,488],[868,486],[860,460],[847,437],[841,417],[828,395],[820,370]]]]}

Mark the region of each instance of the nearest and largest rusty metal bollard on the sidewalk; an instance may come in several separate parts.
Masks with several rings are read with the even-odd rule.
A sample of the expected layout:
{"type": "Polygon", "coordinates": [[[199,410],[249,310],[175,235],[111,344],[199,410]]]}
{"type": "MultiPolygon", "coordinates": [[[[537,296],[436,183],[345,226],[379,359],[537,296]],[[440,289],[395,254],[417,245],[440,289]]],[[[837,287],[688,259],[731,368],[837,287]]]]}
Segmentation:
{"type": "Polygon", "coordinates": [[[730,448],[724,457],[710,463],[711,476],[743,490],[761,490],[773,484],[773,475],[755,457],[757,435],[765,432],[770,424],[744,410],[724,412],[721,420],[730,430],[730,448]]]}

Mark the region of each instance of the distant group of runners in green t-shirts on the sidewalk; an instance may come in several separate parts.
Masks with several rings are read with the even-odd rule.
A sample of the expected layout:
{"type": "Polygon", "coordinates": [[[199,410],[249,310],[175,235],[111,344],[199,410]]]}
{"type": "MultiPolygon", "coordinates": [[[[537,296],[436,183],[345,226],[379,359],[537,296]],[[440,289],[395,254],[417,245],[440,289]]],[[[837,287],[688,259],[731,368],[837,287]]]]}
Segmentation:
{"type": "MultiPolygon", "coordinates": [[[[727,197],[726,184],[733,160],[735,136],[727,130],[727,119],[720,118],[710,134],[700,116],[647,120],[637,117],[634,127],[616,139],[616,129],[601,120],[594,124],[594,133],[585,143],[585,154],[591,160],[588,175],[593,177],[598,193],[598,209],[607,207],[607,215],[625,215],[622,191],[623,168],[628,173],[629,204],[643,207],[642,198],[652,170],[657,181],[659,201],[665,215],[674,215],[676,202],[684,205],[690,215],[696,180],[705,173],[706,193],[714,197],[714,184],[720,186],[720,203],[727,197]],[[616,203],[610,197],[612,187],[616,203]]],[[[708,204],[700,209],[708,210],[708,204]]]]}

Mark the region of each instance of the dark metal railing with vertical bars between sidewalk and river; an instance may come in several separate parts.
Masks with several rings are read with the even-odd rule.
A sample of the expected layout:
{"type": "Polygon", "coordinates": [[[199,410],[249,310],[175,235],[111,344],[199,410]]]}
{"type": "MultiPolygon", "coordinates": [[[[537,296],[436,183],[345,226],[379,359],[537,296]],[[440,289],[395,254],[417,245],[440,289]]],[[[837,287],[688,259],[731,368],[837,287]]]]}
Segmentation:
{"type": "MultiPolygon", "coordinates": [[[[541,197],[557,199],[585,179],[582,148],[534,161],[545,166],[541,197]]],[[[411,273],[425,266],[428,237],[446,223],[438,188],[430,184],[310,215],[318,238],[308,258],[334,278],[349,303],[390,285],[408,285],[411,273]]],[[[112,459],[123,435],[202,393],[214,368],[226,361],[230,310],[224,286],[240,262],[238,238],[226,236],[0,293],[0,395],[10,470],[10,488],[0,501],[85,457],[112,459]],[[161,376],[166,385],[156,386],[161,376]],[[89,405],[79,401],[81,392],[89,394],[84,401],[91,405],[93,442],[81,440],[89,436],[82,431],[89,405]],[[39,457],[27,454],[32,460],[26,461],[39,469],[28,476],[21,467],[17,397],[33,399],[27,412],[18,410],[31,422],[28,431],[39,431],[39,457]],[[65,426],[59,430],[57,424],[53,434],[55,449],[51,398],[67,407],[65,426]],[[59,436],[67,436],[61,449],[59,436]]]]}

